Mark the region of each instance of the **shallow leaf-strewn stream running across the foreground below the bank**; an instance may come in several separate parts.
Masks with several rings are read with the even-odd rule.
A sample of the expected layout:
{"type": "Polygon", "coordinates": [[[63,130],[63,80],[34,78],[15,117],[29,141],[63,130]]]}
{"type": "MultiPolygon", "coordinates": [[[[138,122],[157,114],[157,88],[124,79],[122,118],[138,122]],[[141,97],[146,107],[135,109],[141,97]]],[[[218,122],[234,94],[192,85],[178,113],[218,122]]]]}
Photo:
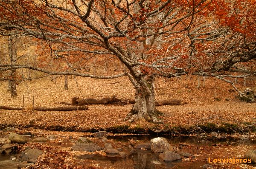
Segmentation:
{"type": "MultiPolygon", "coordinates": [[[[0,135],[4,138],[6,135],[0,135]]],[[[33,138],[37,136],[25,136],[28,138],[29,142],[32,142],[33,138]]],[[[40,144],[47,144],[49,146],[55,147],[72,147],[75,139],[72,137],[65,138],[64,136],[58,136],[58,138],[63,137],[61,144],[55,141],[47,141],[40,144]]],[[[90,137],[90,135],[89,135],[90,137]]],[[[151,150],[146,149],[134,149],[134,145],[149,143],[152,138],[158,137],[157,135],[108,135],[107,141],[102,141],[101,139],[92,138],[92,141],[98,146],[104,147],[105,142],[110,142],[113,148],[119,148],[122,152],[125,152],[125,156],[121,157],[118,154],[98,154],[90,153],[83,155],[76,155],[74,158],[80,160],[81,162],[91,160],[99,164],[100,167],[113,168],[113,169],[198,169],[206,163],[206,157],[195,158],[183,158],[183,160],[174,162],[163,162],[159,159],[159,153],[153,153],[151,150]],[[133,145],[134,144],[134,145],[133,145]],[[131,150],[134,150],[131,152],[131,150]],[[186,160],[184,160],[186,159],[186,160]],[[195,159],[195,160],[193,160],[195,159]]],[[[199,154],[200,152],[195,151],[198,147],[209,147],[212,146],[226,146],[232,145],[234,149],[241,148],[242,146],[253,146],[256,148],[255,138],[243,138],[243,137],[221,137],[212,138],[207,135],[198,136],[170,136],[161,135],[168,140],[169,144],[175,145],[178,149],[188,152],[191,154],[199,154]],[[183,147],[182,145],[187,145],[183,147]]],[[[207,148],[205,148],[207,149],[207,148]]],[[[20,154],[14,155],[0,155],[0,169],[17,169],[18,161],[13,161],[20,154]]],[[[255,164],[250,164],[250,166],[256,166],[255,164]]]]}

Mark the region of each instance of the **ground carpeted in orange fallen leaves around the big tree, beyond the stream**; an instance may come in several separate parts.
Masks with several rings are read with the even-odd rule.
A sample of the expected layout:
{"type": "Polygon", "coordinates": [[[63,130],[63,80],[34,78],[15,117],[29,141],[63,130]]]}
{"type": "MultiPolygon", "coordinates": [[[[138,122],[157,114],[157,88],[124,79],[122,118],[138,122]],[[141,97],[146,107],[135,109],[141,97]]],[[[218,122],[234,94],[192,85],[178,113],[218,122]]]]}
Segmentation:
{"type": "MultiPolygon", "coordinates": [[[[81,132],[102,129],[116,130],[116,132],[172,129],[169,131],[177,133],[256,131],[256,103],[240,101],[236,98],[238,93],[233,90],[232,86],[214,78],[207,78],[204,87],[201,85],[200,88],[196,88],[197,78],[195,76],[183,76],[180,79],[156,79],[157,100],[177,98],[187,103],[157,107],[163,112],[160,119],[164,124],[145,121],[129,124],[123,121],[131,110],[132,104],[89,105],[89,110],[84,111],[35,111],[32,113],[33,96],[35,96],[35,107],[61,106],[59,102],[71,102],[73,97],[101,99],[115,95],[122,99],[134,99],[135,90],[126,77],[107,80],[76,77],[76,79],[68,80],[68,90],[64,90],[64,77],[53,81],[48,77],[32,82],[21,82],[17,85],[18,96],[14,98],[11,98],[7,91],[8,83],[0,82],[0,105],[21,107],[24,95],[26,108],[23,112],[0,110],[0,124],[81,132]],[[113,84],[114,82],[117,83],[113,84]]],[[[240,79],[237,87],[240,90],[255,89],[255,79],[247,79],[245,87],[240,79]]]]}

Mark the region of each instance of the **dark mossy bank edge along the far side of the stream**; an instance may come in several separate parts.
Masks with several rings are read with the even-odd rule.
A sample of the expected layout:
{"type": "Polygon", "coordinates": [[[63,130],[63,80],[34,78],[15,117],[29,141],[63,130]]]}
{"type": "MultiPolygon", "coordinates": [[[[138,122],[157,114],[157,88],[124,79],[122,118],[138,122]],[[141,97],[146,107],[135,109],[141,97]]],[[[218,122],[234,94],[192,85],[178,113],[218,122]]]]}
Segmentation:
{"type": "Polygon", "coordinates": [[[157,134],[157,135],[187,135],[187,134],[200,134],[200,133],[209,133],[209,132],[218,132],[224,134],[248,134],[251,132],[256,132],[256,125],[254,123],[243,123],[243,124],[198,124],[195,126],[173,126],[166,127],[163,125],[155,125],[151,127],[142,127],[139,125],[120,125],[107,128],[85,128],[79,126],[60,126],[60,125],[35,125],[35,124],[26,124],[26,125],[17,125],[17,124],[0,124],[0,130],[3,130],[6,127],[16,127],[20,129],[34,128],[50,131],[64,131],[64,132],[97,132],[104,130],[106,132],[112,133],[133,133],[133,134],[157,134]]]}

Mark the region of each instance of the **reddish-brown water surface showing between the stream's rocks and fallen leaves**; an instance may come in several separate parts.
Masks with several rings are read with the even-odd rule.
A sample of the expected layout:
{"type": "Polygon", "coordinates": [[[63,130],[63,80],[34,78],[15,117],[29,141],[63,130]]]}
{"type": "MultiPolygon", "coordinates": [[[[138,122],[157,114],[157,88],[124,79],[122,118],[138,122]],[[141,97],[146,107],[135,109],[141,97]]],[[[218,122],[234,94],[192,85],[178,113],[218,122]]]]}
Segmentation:
{"type": "MultiPolygon", "coordinates": [[[[1,135],[2,137],[4,135],[1,135]]],[[[29,141],[32,141],[31,136],[26,136],[29,141]]],[[[140,143],[149,143],[152,138],[158,137],[157,135],[108,135],[108,139],[112,140],[111,144],[114,148],[121,148],[127,156],[120,157],[119,155],[99,155],[99,154],[90,154],[90,155],[77,155],[76,158],[79,160],[93,160],[99,164],[101,167],[112,167],[115,169],[198,169],[203,166],[206,162],[204,160],[196,161],[175,161],[175,162],[163,162],[160,161],[159,154],[152,153],[150,150],[141,150],[136,149],[136,152],[130,153],[132,146],[131,141],[135,141],[137,144],[140,143]]],[[[201,144],[233,144],[233,145],[253,145],[256,146],[255,139],[242,139],[242,138],[208,138],[207,136],[170,136],[162,135],[165,137],[170,144],[177,145],[179,143],[186,143],[189,145],[201,145],[201,144]],[[204,140],[204,143],[203,143],[204,140]],[[205,143],[205,141],[207,142],[205,143]]],[[[99,139],[93,140],[99,146],[104,146],[104,141],[99,139]]],[[[51,146],[61,146],[61,147],[71,147],[72,141],[67,140],[62,142],[62,144],[57,144],[53,142],[46,142],[41,144],[48,144],[51,146]]],[[[17,169],[19,162],[12,161],[10,159],[11,155],[0,155],[0,169],[17,169]]],[[[254,165],[256,166],[256,165],[254,165]]]]}

